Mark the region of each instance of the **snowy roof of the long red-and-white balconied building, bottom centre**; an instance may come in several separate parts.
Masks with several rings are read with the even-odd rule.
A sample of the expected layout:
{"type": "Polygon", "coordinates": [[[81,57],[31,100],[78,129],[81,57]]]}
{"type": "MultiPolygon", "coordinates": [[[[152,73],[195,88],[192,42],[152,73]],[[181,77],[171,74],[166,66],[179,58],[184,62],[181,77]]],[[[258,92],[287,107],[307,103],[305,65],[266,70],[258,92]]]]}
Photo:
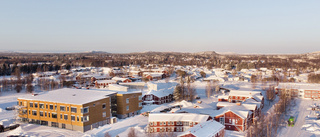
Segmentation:
{"type": "Polygon", "coordinates": [[[150,113],[148,121],[193,121],[201,123],[208,119],[209,115],[191,113],[150,113]]]}

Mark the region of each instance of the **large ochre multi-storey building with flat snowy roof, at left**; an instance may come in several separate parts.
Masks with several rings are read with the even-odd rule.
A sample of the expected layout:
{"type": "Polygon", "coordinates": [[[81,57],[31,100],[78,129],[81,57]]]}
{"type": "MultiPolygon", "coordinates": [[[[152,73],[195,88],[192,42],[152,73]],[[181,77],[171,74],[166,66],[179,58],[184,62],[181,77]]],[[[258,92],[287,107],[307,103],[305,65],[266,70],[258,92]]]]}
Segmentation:
{"type": "Polygon", "coordinates": [[[113,92],[63,88],[18,98],[24,122],[85,132],[112,123],[113,92]]]}

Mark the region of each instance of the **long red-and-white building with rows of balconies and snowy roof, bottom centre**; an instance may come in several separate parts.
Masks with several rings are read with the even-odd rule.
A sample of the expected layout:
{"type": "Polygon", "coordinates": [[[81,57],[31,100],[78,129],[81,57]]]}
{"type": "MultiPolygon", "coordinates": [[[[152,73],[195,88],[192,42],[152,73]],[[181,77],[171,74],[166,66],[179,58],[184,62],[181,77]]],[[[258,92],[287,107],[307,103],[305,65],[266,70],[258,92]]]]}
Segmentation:
{"type": "Polygon", "coordinates": [[[211,119],[209,115],[189,113],[150,113],[148,132],[184,132],[211,119]]]}

